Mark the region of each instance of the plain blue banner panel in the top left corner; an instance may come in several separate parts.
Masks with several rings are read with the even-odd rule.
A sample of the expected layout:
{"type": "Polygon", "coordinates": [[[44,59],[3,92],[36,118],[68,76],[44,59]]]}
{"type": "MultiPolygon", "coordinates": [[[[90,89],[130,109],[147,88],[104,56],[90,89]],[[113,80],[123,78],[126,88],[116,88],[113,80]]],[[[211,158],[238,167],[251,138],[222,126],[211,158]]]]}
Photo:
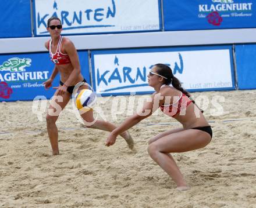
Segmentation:
{"type": "Polygon", "coordinates": [[[1,1],[0,38],[32,37],[30,0],[1,1]]]}

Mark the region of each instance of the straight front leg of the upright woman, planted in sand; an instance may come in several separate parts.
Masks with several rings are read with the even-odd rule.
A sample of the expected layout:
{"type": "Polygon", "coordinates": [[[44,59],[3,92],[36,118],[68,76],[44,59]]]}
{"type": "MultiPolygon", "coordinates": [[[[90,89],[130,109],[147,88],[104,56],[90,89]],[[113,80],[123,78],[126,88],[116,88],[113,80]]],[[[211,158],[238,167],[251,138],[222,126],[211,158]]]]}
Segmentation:
{"type": "Polygon", "coordinates": [[[56,121],[63,108],[65,108],[70,100],[70,93],[66,92],[62,96],[58,97],[56,97],[56,93],[57,91],[55,92],[54,97],[50,101],[48,113],[46,116],[47,132],[52,146],[52,155],[59,155],[58,129],[56,126],[56,121]]]}

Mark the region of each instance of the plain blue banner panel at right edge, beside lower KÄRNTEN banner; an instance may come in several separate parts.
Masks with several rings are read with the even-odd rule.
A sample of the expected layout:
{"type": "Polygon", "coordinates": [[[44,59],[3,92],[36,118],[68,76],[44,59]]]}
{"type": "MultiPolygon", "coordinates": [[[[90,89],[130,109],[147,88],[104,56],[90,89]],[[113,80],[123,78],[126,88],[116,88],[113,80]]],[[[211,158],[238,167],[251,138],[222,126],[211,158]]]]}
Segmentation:
{"type": "Polygon", "coordinates": [[[238,88],[256,89],[256,45],[236,45],[235,51],[238,88]]]}

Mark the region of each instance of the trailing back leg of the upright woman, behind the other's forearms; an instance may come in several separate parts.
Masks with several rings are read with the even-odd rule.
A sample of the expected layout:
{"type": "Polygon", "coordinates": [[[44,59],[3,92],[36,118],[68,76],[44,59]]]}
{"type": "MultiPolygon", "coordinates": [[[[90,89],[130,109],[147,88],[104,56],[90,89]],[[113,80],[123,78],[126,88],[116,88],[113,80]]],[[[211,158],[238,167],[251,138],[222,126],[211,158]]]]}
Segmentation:
{"type": "MultiPolygon", "coordinates": [[[[81,114],[81,117],[84,119],[84,126],[88,128],[100,129],[107,132],[112,132],[112,130],[116,128],[116,126],[113,125],[111,122],[101,120],[95,121],[93,116],[93,110],[81,114]]],[[[120,136],[122,136],[126,140],[126,143],[129,145],[129,148],[133,149],[134,143],[129,132],[123,132],[122,134],[120,134],[120,136]]]]}

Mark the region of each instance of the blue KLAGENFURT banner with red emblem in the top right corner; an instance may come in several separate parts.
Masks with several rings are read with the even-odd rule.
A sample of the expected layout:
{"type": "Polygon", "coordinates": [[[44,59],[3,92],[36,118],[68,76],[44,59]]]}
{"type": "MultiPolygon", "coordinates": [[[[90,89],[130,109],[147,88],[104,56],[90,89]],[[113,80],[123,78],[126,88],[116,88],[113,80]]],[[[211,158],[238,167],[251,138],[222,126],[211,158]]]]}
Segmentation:
{"type": "Polygon", "coordinates": [[[163,0],[166,31],[256,27],[255,0],[163,0]]]}

